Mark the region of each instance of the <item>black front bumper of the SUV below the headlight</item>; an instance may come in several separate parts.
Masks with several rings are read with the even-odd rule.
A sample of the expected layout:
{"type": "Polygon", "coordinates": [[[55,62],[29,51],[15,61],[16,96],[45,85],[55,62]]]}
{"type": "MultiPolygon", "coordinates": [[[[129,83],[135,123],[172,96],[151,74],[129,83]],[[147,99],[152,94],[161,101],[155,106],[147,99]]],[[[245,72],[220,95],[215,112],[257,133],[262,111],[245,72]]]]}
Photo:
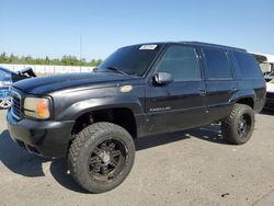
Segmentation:
{"type": "Polygon", "coordinates": [[[7,122],[12,139],[30,152],[46,158],[60,158],[67,154],[73,121],[18,121],[9,110],[7,122]]]}

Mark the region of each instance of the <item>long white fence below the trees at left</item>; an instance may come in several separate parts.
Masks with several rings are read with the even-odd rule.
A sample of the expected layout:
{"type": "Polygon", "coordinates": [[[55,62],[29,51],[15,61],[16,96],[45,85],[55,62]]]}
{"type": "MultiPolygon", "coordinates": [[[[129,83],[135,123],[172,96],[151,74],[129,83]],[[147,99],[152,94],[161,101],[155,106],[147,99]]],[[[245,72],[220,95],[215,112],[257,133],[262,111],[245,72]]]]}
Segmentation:
{"type": "Polygon", "coordinates": [[[10,65],[0,64],[0,67],[19,71],[21,69],[31,67],[36,73],[76,73],[76,72],[90,72],[94,67],[80,67],[80,66],[54,66],[54,65],[10,65]]]}

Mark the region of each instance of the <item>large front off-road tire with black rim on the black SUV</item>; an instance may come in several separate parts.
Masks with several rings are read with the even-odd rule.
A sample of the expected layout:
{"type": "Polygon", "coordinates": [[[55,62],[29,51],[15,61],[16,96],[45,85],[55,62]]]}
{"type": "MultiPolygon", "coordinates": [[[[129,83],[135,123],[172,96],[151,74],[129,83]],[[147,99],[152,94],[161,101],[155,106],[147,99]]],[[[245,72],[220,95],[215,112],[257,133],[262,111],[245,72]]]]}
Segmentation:
{"type": "Polygon", "coordinates": [[[71,176],[91,193],[118,186],[130,172],[135,160],[132,136],[112,123],[94,123],[81,130],[68,152],[71,176]]]}

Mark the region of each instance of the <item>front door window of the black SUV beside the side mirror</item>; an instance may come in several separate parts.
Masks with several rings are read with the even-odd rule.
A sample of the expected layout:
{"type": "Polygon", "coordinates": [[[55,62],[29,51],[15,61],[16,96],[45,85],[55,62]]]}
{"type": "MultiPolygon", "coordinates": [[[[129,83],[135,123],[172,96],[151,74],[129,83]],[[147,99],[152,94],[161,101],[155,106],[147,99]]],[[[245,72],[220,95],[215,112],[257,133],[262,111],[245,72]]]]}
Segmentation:
{"type": "Polygon", "coordinates": [[[194,48],[172,46],[168,48],[157,71],[169,72],[174,80],[201,80],[201,70],[194,48]]]}

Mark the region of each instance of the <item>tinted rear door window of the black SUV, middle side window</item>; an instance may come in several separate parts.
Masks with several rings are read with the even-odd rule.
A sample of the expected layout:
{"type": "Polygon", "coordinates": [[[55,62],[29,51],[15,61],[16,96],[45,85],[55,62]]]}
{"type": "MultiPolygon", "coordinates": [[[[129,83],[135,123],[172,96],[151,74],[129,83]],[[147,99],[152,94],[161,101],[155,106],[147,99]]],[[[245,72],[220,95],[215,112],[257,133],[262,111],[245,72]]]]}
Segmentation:
{"type": "Polygon", "coordinates": [[[228,79],[232,77],[225,52],[220,49],[203,49],[209,79],[228,79]]]}

